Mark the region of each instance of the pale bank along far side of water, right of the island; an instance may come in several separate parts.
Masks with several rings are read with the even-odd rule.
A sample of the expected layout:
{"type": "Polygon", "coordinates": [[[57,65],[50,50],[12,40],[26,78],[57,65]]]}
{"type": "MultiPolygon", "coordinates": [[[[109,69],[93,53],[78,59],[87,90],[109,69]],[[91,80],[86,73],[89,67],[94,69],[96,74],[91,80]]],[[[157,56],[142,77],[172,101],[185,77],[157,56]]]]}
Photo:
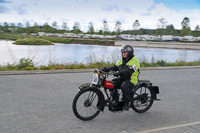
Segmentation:
{"type": "Polygon", "coordinates": [[[115,41],[115,46],[124,44],[135,48],[160,48],[180,50],[200,50],[200,43],[178,43],[178,42],[149,42],[149,41],[115,41]]]}

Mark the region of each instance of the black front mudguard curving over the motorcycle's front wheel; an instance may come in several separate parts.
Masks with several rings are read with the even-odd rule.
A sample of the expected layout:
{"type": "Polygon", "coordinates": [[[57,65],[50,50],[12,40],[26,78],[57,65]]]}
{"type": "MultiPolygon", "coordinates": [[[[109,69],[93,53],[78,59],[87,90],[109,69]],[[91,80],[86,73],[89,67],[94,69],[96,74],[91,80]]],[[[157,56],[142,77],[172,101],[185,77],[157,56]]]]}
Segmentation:
{"type": "Polygon", "coordinates": [[[83,92],[83,91],[89,91],[89,90],[94,90],[96,93],[97,93],[97,95],[99,96],[99,110],[100,111],[104,111],[104,108],[105,108],[105,97],[104,97],[104,95],[103,95],[103,93],[102,93],[102,91],[100,90],[100,89],[98,89],[96,86],[91,86],[90,84],[84,84],[84,85],[81,85],[80,87],[79,87],[79,92],[81,93],[81,92],[83,92]]]}

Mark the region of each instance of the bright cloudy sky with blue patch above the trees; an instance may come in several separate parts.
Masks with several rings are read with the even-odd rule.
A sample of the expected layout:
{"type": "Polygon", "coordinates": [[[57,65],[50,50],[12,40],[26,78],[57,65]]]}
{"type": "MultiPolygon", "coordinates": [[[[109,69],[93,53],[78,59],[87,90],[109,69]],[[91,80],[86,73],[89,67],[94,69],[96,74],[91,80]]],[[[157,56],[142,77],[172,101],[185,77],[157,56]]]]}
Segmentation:
{"type": "Polygon", "coordinates": [[[200,0],[0,0],[0,24],[35,22],[39,25],[66,22],[72,29],[80,23],[82,31],[87,31],[89,22],[96,31],[103,28],[103,20],[108,29],[114,30],[117,21],[123,30],[132,30],[138,20],[140,28],[156,29],[159,19],[168,25],[181,29],[184,17],[190,19],[190,28],[200,25],[200,0]]]}

